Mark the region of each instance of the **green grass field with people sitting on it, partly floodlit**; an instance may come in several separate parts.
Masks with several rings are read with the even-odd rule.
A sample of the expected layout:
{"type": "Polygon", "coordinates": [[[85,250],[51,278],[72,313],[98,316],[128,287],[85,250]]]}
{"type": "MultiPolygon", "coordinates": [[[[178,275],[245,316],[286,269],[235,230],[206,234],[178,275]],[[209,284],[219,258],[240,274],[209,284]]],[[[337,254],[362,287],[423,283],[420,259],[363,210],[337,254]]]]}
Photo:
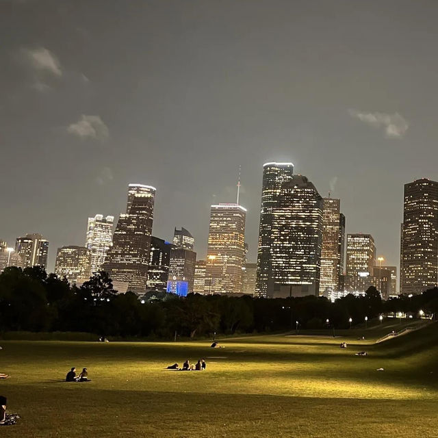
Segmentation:
{"type": "Polygon", "coordinates": [[[22,419],[0,436],[437,437],[438,327],[374,344],[389,331],[390,322],[336,339],[240,337],[215,349],[2,341],[0,372],[12,378],[0,381],[0,395],[22,419]],[[357,340],[363,333],[369,339],[357,340]],[[164,370],[201,357],[205,372],[164,370]],[[73,365],[88,367],[92,382],[62,382],[73,365]]]}

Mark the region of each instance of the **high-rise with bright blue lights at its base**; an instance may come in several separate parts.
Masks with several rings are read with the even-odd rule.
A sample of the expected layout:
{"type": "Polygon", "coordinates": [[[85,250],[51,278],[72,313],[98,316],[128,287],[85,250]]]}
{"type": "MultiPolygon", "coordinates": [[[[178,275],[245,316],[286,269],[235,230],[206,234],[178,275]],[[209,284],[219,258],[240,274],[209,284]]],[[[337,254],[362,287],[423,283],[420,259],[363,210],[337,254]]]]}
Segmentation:
{"type": "Polygon", "coordinates": [[[170,250],[167,292],[184,296],[193,292],[194,288],[194,237],[185,228],[175,228],[173,244],[175,247],[170,250]]]}

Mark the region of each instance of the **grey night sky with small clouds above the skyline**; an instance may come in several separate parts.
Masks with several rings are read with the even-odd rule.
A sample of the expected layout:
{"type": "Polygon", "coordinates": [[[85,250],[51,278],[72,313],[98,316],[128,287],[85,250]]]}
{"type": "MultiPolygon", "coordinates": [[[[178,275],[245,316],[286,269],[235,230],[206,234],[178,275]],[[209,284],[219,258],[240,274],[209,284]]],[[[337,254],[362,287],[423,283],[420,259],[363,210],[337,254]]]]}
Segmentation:
{"type": "Polygon", "coordinates": [[[209,205],[248,209],[290,161],[341,198],[346,232],[398,265],[403,184],[438,179],[437,1],[0,1],[0,238],[85,243],[128,183],[153,234],[207,250],[209,205]]]}

